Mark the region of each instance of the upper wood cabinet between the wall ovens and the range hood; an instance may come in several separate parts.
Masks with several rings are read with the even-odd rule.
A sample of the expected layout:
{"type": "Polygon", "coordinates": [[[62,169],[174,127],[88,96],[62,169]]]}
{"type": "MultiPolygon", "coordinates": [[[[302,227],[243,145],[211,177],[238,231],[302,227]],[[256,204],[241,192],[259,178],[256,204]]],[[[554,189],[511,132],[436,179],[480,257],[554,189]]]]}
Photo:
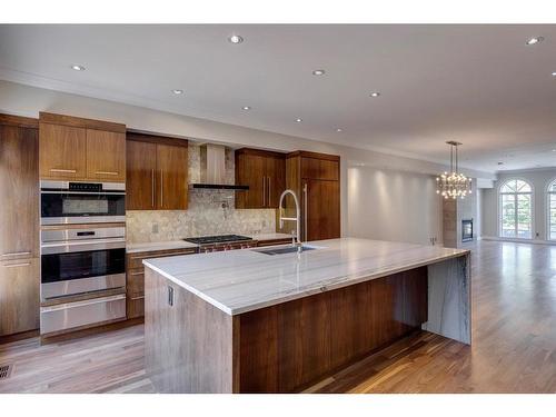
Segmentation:
{"type": "Polygon", "coordinates": [[[128,210],[187,210],[187,140],[128,133],[128,210]]]}

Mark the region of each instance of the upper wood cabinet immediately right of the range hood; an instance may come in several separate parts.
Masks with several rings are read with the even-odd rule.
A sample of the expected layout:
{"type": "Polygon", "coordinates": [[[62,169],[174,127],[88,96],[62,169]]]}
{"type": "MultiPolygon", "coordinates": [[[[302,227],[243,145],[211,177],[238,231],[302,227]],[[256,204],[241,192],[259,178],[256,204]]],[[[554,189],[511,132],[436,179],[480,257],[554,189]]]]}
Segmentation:
{"type": "Polygon", "coordinates": [[[236,208],[278,208],[286,187],[284,153],[242,148],[236,151],[236,183],[249,186],[236,193],[236,208]]]}

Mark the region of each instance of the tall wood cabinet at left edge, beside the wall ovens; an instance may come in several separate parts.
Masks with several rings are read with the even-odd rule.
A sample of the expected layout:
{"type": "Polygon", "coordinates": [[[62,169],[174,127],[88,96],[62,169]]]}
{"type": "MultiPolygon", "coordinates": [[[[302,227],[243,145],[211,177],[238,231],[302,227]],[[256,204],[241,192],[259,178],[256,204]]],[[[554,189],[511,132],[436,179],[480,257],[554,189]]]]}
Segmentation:
{"type": "Polygon", "coordinates": [[[0,336],[39,328],[38,121],[0,115],[0,336]]]}

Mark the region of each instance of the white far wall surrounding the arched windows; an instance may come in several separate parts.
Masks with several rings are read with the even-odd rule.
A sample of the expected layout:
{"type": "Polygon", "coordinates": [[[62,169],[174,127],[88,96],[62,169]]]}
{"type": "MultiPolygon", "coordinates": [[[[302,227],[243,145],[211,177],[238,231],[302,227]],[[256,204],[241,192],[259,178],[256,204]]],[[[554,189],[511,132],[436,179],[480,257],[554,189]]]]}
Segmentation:
{"type": "Polygon", "coordinates": [[[533,186],[534,239],[547,240],[546,188],[556,178],[556,168],[499,172],[494,188],[483,191],[483,236],[498,237],[498,187],[509,178],[522,178],[533,186]]]}

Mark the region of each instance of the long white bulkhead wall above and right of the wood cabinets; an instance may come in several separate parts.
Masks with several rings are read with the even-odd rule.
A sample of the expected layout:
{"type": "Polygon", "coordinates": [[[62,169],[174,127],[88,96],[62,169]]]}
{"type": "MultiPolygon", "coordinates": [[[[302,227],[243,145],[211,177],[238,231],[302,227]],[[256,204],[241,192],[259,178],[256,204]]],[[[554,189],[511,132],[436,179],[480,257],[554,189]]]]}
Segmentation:
{"type": "MultiPolygon", "coordinates": [[[[347,236],[348,234],[347,167],[350,162],[364,162],[377,169],[396,169],[426,175],[436,175],[447,169],[444,165],[418,159],[326,143],[0,80],[0,112],[38,117],[39,111],[117,121],[126,123],[129,129],[168,135],[177,138],[281,151],[301,149],[339,155],[341,158],[340,203],[342,236],[347,236]]],[[[371,138],[369,138],[369,142],[373,142],[371,138]]],[[[464,173],[478,178],[496,178],[493,173],[474,170],[465,170],[464,173]]],[[[381,220],[387,221],[387,219],[381,220]]]]}

